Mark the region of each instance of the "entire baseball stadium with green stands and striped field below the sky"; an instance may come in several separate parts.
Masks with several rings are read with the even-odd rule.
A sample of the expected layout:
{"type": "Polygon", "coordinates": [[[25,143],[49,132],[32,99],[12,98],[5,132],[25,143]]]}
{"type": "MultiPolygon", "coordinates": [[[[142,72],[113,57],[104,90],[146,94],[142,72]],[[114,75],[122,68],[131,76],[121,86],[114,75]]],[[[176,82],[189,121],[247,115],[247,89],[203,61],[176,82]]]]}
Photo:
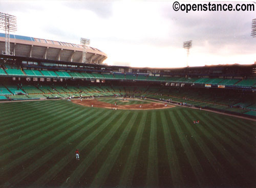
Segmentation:
{"type": "Polygon", "coordinates": [[[89,45],[9,40],[1,187],[256,186],[256,64],[110,66],[89,45]]]}

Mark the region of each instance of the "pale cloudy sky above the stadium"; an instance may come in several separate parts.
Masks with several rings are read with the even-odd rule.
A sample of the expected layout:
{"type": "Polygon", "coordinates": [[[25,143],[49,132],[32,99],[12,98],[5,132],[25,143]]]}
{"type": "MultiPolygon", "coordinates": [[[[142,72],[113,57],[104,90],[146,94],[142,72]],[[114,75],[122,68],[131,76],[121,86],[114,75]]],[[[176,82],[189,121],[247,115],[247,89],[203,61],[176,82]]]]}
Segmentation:
{"type": "Polygon", "coordinates": [[[108,54],[104,62],[109,65],[184,67],[187,61],[189,66],[256,61],[256,38],[250,36],[256,11],[185,13],[174,11],[173,3],[0,0],[0,12],[17,16],[17,35],[72,43],[89,38],[92,47],[108,54]],[[187,40],[193,40],[189,58],[182,48],[187,40]]]}

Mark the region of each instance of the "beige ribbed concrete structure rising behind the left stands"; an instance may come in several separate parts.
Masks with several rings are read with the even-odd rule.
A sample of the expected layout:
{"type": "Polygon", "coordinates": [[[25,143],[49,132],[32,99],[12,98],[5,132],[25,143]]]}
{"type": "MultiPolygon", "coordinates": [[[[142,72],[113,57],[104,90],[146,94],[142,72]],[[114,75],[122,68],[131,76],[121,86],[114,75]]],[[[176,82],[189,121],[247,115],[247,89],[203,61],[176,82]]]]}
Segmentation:
{"type": "MultiPolygon", "coordinates": [[[[0,54],[5,51],[5,34],[0,33],[0,54]]],[[[82,62],[83,46],[68,42],[10,35],[10,52],[14,56],[82,62]]],[[[87,63],[102,64],[107,55],[96,48],[86,46],[87,63]]]]}

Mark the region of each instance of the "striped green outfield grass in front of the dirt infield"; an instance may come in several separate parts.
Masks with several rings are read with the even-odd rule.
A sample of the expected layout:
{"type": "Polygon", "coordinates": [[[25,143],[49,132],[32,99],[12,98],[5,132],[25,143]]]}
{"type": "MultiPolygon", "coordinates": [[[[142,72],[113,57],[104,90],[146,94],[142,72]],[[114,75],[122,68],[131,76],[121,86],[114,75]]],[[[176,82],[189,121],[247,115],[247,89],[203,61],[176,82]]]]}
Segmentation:
{"type": "Polygon", "coordinates": [[[0,103],[0,114],[4,187],[256,186],[256,127],[249,120],[67,101],[0,103]]]}

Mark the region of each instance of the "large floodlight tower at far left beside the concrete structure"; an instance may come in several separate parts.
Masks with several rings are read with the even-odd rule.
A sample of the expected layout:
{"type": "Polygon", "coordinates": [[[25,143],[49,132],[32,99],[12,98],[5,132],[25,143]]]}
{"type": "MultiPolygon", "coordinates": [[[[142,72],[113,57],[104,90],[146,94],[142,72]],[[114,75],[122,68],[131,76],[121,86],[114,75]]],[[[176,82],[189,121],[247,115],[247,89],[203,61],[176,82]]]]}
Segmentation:
{"type": "Polygon", "coordinates": [[[10,32],[17,31],[16,16],[0,12],[0,29],[5,30],[5,54],[10,55],[10,32]]]}

